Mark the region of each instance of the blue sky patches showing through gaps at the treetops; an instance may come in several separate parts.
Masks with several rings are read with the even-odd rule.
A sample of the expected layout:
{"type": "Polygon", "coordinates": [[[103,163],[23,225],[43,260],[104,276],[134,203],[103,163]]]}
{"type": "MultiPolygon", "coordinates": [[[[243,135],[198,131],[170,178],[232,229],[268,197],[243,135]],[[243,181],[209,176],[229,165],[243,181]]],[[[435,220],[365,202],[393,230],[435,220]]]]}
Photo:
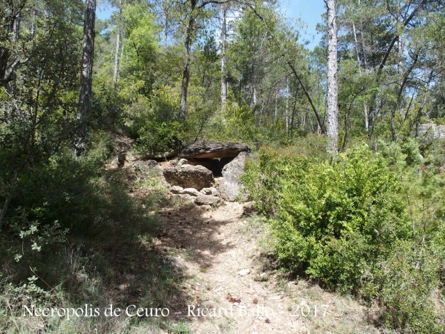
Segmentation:
{"type": "MultiPolygon", "coordinates": [[[[285,17],[296,23],[298,19],[305,24],[300,30],[302,40],[309,41],[307,47],[314,49],[320,42],[321,35],[316,32],[317,23],[321,22],[321,15],[325,12],[323,0],[279,0],[280,8],[285,17]]],[[[97,17],[106,19],[113,13],[114,8],[104,3],[97,7],[97,17]]]]}

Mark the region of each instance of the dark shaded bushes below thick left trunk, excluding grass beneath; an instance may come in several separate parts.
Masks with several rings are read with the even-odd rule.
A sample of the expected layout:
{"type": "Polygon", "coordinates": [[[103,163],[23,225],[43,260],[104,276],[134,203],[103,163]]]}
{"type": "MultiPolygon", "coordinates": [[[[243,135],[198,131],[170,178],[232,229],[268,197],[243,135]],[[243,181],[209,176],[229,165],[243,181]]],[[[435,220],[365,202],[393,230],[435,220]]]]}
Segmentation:
{"type": "MultiPolygon", "coordinates": [[[[58,256],[66,256],[63,250],[74,240],[94,238],[120,225],[126,229],[120,232],[121,239],[141,225],[155,228],[149,226],[152,222],[147,222],[145,210],[128,195],[131,184],[105,170],[109,136],[91,137],[95,148],[83,159],[74,160],[70,150],[63,150],[22,172],[17,180],[0,239],[4,246],[0,268],[11,282],[26,281],[32,267],[38,268],[46,283],[57,285],[66,265],[58,256]]],[[[152,207],[149,197],[146,202],[152,207]]],[[[0,200],[3,202],[1,195],[0,200]]]]}

